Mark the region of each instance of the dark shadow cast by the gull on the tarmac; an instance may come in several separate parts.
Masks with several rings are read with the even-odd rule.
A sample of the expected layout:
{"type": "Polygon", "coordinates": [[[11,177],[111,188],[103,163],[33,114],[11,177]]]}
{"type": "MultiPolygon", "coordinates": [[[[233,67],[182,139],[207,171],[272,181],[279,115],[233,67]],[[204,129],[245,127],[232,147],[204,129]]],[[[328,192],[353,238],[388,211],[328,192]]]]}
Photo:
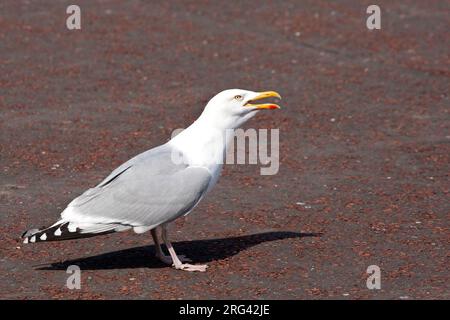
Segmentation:
{"type": "MultiPolygon", "coordinates": [[[[257,244],[288,238],[318,237],[320,233],[265,232],[240,237],[180,241],[174,243],[178,254],[192,259],[194,263],[206,263],[231,257],[242,250],[257,244]]],[[[81,270],[161,268],[165,266],[154,255],[153,245],[119,250],[109,253],[51,263],[38,270],[67,270],[70,265],[77,265],[81,270]]]]}

